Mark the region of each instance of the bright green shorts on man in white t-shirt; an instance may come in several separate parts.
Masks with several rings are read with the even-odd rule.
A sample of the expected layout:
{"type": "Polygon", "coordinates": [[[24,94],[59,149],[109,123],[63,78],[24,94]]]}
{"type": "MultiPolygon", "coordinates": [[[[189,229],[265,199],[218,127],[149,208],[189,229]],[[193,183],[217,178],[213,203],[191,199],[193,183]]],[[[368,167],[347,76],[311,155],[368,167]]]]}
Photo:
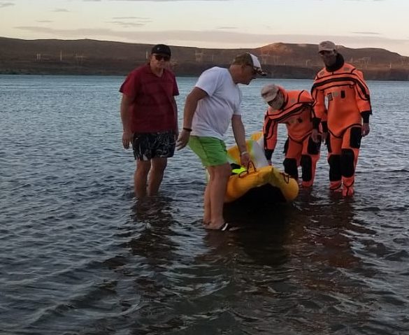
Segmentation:
{"type": "Polygon", "coordinates": [[[219,138],[190,136],[189,147],[199,156],[203,166],[216,166],[228,163],[226,145],[219,138]]]}

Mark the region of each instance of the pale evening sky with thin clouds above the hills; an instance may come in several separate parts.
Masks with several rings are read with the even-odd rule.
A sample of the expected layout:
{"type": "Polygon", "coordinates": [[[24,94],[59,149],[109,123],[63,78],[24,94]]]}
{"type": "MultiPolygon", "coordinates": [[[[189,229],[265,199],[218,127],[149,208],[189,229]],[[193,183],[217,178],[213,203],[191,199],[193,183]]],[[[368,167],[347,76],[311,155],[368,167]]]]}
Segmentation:
{"type": "Polygon", "coordinates": [[[409,56],[409,0],[0,0],[0,36],[259,48],[330,40],[409,56]]]}

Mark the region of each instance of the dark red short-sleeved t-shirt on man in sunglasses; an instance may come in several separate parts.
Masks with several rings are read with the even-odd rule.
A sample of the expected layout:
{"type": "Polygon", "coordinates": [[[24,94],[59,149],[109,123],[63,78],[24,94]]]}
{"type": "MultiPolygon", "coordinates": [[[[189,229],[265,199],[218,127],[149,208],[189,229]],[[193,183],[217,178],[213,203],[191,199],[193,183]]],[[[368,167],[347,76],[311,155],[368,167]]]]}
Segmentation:
{"type": "Polygon", "coordinates": [[[176,129],[173,97],[179,95],[175,75],[166,69],[156,76],[149,64],[138,67],[125,79],[120,92],[134,97],[131,131],[150,133],[176,129]]]}

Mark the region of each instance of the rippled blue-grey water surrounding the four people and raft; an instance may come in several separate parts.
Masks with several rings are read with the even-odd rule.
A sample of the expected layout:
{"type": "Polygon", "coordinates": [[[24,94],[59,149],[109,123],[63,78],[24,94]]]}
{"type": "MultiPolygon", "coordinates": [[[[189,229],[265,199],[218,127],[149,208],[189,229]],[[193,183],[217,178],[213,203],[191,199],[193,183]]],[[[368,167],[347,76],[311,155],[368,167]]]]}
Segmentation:
{"type": "MultiPolygon", "coordinates": [[[[323,150],[313,190],[227,213],[247,229],[221,233],[201,226],[188,149],[159,197],[134,199],[122,80],[0,76],[1,334],[408,334],[409,83],[368,83],[352,199],[327,190],[323,150]]],[[[267,81],[243,87],[247,133],[267,81]]],[[[182,111],[195,78],[178,82],[182,111]]]]}

